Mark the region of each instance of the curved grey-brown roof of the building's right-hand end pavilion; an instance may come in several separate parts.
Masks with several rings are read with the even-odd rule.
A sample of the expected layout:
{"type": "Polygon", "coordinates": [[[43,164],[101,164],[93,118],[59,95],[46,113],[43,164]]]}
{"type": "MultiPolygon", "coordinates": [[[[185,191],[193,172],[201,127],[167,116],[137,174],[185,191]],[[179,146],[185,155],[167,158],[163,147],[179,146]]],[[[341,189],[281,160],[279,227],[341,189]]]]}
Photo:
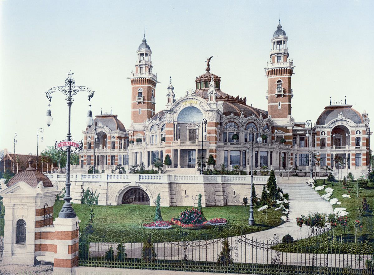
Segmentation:
{"type": "Polygon", "coordinates": [[[329,105],[325,107],[325,110],[319,116],[316,124],[317,125],[325,125],[329,123],[329,121],[337,118],[339,114],[342,113],[344,118],[348,118],[352,120],[354,123],[364,123],[362,119],[362,115],[352,108],[352,105],[329,105]]]}

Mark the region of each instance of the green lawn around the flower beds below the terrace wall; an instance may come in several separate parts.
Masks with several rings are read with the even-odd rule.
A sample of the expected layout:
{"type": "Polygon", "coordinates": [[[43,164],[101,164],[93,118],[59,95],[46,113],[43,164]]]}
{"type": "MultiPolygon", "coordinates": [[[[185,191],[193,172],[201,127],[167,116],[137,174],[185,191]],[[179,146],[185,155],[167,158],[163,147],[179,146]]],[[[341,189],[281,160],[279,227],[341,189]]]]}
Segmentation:
{"type": "MultiPolygon", "coordinates": [[[[62,204],[62,200],[56,200],[53,208],[55,217],[58,217],[58,212],[62,204]]],[[[197,240],[210,239],[215,236],[223,235],[234,236],[247,234],[270,229],[283,222],[281,220],[283,214],[280,211],[269,209],[266,219],[266,212],[257,211],[258,207],[254,209],[255,226],[248,226],[249,206],[214,206],[203,208],[203,213],[207,220],[212,218],[226,218],[227,220],[234,220],[233,224],[236,224],[236,226],[221,230],[217,230],[217,228],[199,230],[181,230],[179,228],[174,228],[153,230],[153,232],[157,234],[161,240],[175,238],[197,240]]],[[[88,223],[91,206],[86,204],[73,204],[73,208],[81,220],[80,228],[83,229],[88,223]]],[[[135,241],[135,239],[139,240],[139,235],[150,230],[142,229],[140,227],[141,222],[147,218],[153,219],[155,209],[156,207],[148,205],[94,205],[94,235],[98,237],[106,236],[108,238],[119,238],[123,236],[128,240],[131,239],[131,241],[135,241]],[[128,236],[131,236],[131,238],[128,238],[128,236]]],[[[161,207],[162,217],[164,220],[171,220],[173,217],[178,217],[180,212],[185,209],[186,207],[184,206],[161,207]]]]}

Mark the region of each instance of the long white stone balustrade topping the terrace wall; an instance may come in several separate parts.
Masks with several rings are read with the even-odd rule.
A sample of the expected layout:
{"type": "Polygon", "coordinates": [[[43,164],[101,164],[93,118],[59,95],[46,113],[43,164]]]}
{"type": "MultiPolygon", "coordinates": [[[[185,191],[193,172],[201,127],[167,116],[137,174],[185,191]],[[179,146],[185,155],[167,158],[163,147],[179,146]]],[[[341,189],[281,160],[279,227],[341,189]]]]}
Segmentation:
{"type": "MultiPolygon", "coordinates": [[[[45,174],[51,181],[66,181],[65,174],[45,174]]],[[[253,182],[266,183],[269,176],[253,176],[253,182]]],[[[276,176],[278,180],[278,176],[276,176]]],[[[169,174],[71,174],[70,181],[84,182],[184,182],[184,183],[251,183],[251,176],[227,175],[169,175],[169,174]]]]}

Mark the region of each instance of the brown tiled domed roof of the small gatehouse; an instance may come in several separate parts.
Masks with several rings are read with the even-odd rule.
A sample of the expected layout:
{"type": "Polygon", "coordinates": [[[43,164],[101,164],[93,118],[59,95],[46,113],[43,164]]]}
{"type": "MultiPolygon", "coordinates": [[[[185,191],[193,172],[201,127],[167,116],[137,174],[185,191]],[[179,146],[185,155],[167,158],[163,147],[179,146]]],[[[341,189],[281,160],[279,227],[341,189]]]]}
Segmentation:
{"type": "Polygon", "coordinates": [[[39,182],[43,182],[44,187],[53,187],[52,182],[43,173],[40,173],[33,168],[33,158],[28,159],[28,168],[25,171],[19,172],[8,182],[8,187],[17,182],[24,181],[33,188],[36,188],[39,182]]]}

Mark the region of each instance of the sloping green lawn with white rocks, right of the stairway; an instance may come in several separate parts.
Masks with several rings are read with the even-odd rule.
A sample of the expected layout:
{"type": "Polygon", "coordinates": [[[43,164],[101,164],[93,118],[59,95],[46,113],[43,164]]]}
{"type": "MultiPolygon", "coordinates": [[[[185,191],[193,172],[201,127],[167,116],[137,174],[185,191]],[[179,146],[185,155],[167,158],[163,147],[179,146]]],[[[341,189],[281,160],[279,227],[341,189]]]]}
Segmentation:
{"type": "MultiPolygon", "coordinates": [[[[317,180],[316,186],[323,185],[323,179],[317,180]]],[[[370,242],[374,242],[374,213],[373,213],[373,207],[374,207],[374,184],[370,182],[365,188],[360,188],[357,193],[355,192],[355,185],[356,182],[349,182],[347,181],[347,187],[346,189],[343,188],[342,182],[327,182],[326,181],[326,187],[324,190],[317,191],[320,195],[326,194],[325,189],[328,187],[331,187],[334,189],[332,192],[332,195],[330,199],[337,198],[341,202],[341,205],[334,204],[332,207],[335,209],[336,207],[343,207],[347,208],[347,212],[349,212],[348,218],[349,223],[346,230],[347,235],[343,235],[343,237],[346,238],[347,241],[354,241],[355,240],[355,227],[353,226],[353,221],[359,220],[362,223],[362,228],[357,230],[357,239],[358,241],[365,241],[369,240],[370,242]],[[349,193],[350,191],[350,193],[349,193]],[[341,195],[343,194],[349,194],[351,198],[345,198],[341,195]],[[370,210],[367,212],[364,212],[362,216],[358,213],[358,208],[362,207],[362,198],[366,197],[367,203],[370,206],[370,210]]]]}

